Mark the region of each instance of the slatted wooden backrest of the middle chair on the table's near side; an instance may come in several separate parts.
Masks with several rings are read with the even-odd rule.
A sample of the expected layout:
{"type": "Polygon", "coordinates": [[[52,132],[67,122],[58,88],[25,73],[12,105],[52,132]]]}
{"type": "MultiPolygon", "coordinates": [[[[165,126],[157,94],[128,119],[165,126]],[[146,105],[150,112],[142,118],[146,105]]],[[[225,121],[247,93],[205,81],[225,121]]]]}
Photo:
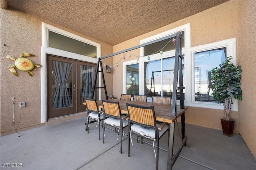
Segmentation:
{"type": "Polygon", "coordinates": [[[118,102],[102,100],[104,112],[111,116],[120,117],[120,106],[118,102]]]}

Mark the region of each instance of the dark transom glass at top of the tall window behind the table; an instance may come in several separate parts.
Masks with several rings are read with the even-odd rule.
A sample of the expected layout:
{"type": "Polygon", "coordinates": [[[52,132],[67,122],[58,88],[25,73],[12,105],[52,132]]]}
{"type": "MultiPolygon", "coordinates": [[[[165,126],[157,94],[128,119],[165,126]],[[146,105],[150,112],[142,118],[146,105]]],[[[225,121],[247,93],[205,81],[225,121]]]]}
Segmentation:
{"type": "MultiPolygon", "coordinates": [[[[185,46],[184,37],[185,37],[185,34],[184,34],[184,31],[182,31],[182,36],[181,36],[181,47],[182,48],[185,46]]],[[[162,51],[164,51],[164,52],[170,51],[170,50],[175,50],[175,44],[172,42],[173,38],[176,38],[176,37],[172,37],[169,39],[165,39],[163,41],[159,41],[159,42],[156,42],[156,43],[153,43],[150,45],[146,45],[144,47],[144,56],[152,55],[152,54],[156,53],[156,51],[159,51],[159,49],[162,49],[163,47],[164,48],[162,49],[162,51]]]]}

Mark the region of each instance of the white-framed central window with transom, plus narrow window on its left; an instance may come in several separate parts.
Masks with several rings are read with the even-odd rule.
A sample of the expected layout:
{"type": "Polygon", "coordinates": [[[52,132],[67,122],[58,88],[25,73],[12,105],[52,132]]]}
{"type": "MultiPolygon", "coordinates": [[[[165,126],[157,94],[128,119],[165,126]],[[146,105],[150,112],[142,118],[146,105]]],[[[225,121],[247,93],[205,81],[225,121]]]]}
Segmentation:
{"type": "MultiPolygon", "coordinates": [[[[190,23],[143,39],[140,41],[140,44],[172,35],[178,31],[182,31],[182,52],[185,54],[186,47],[190,47],[190,23]]],[[[148,102],[150,102],[153,95],[172,96],[176,47],[172,39],[173,37],[142,47],[140,48],[140,56],[144,57],[140,57],[139,61],[126,61],[123,63],[123,72],[124,75],[126,75],[123,79],[123,83],[126,84],[123,88],[124,94],[129,94],[130,91],[128,89],[131,87],[130,70],[128,66],[136,64],[136,66],[138,66],[138,87],[136,86],[136,88],[138,89],[137,93],[139,95],[147,95],[148,102]],[[159,53],[160,49],[164,52],[162,55],[159,53]],[[148,56],[150,56],[149,61],[148,56]]],[[[184,63],[183,60],[183,64],[184,63]]],[[[185,72],[183,72],[183,74],[185,75],[185,72]]],[[[135,78],[135,76],[132,77],[135,78]]]]}

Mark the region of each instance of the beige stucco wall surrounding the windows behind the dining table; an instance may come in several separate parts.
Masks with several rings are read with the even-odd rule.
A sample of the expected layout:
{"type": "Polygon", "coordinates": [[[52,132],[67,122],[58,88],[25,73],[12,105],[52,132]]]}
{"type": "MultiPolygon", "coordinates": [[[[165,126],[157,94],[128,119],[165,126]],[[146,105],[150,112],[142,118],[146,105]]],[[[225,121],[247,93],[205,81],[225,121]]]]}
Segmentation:
{"type": "MultiPolygon", "coordinates": [[[[113,47],[113,52],[115,53],[130,47],[134,47],[140,44],[141,39],[145,39],[186,23],[190,23],[191,27],[191,47],[230,38],[238,38],[238,2],[226,2],[214,8],[200,12],[199,14],[184,18],[183,20],[177,21],[170,25],[166,25],[161,29],[157,29],[134,39],[130,39],[124,43],[115,45],[113,47]]],[[[139,49],[131,51],[130,53],[140,56],[139,49]]],[[[113,63],[118,62],[122,55],[124,54],[114,56],[113,63]]],[[[239,58],[239,56],[237,57],[239,58]]],[[[131,59],[136,60],[134,57],[131,57],[131,59]]],[[[129,61],[129,58],[126,57],[125,61],[129,61]]],[[[114,66],[114,96],[120,96],[120,94],[123,93],[123,83],[120,81],[122,80],[122,74],[120,74],[122,72],[122,62],[124,62],[124,60],[119,62],[118,67],[114,66]]],[[[222,129],[220,119],[224,117],[223,110],[189,107],[185,114],[186,123],[214,129],[222,129]]],[[[231,111],[230,116],[235,120],[234,133],[238,133],[239,113],[236,111],[231,111]]]]}

